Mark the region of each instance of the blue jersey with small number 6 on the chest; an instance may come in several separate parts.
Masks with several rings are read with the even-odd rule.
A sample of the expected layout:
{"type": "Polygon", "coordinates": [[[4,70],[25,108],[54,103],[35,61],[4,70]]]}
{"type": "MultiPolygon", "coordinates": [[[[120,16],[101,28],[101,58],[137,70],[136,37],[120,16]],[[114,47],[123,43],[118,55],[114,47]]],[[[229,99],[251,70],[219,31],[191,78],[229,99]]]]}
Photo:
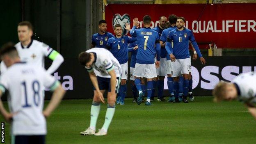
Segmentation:
{"type": "Polygon", "coordinates": [[[128,61],[128,43],[133,43],[134,41],[137,41],[137,39],[128,36],[112,37],[107,41],[106,48],[110,50],[120,64],[124,64],[128,61]]]}

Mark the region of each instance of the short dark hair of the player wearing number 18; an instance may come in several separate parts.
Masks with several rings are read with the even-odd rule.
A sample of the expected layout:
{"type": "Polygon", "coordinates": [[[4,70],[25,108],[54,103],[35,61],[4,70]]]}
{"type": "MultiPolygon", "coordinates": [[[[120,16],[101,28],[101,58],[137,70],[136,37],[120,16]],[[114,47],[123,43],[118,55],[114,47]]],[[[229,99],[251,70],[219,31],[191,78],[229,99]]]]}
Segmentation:
{"type": "Polygon", "coordinates": [[[14,57],[14,56],[18,57],[18,51],[15,48],[14,43],[8,42],[2,46],[2,48],[0,50],[0,57],[2,57],[5,54],[9,54],[9,55],[11,54],[10,56],[12,56],[12,57],[14,57]]]}

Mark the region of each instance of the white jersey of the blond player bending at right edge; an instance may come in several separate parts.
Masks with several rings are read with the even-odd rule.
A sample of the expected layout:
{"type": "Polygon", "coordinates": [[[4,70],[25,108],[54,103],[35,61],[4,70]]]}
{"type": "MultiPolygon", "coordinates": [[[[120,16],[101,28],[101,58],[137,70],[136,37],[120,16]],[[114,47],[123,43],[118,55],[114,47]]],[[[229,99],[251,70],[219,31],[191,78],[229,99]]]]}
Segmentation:
{"type": "Polygon", "coordinates": [[[256,72],[242,73],[232,81],[238,89],[238,99],[256,105],[256,72]]]}

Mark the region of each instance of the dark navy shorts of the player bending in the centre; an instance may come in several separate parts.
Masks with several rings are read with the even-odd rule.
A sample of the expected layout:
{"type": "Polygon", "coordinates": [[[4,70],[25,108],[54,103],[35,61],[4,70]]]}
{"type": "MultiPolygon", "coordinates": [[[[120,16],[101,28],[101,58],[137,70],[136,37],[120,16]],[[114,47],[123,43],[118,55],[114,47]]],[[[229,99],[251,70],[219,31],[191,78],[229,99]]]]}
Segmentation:
{"type": "MultiPolygon", "coordinates": [[[[103,77],[97,76],[97,81],[98,81],[98,87],[100,90],[107,90],[108,92],[111,92],[110,78],[103,78],[103,77]]],[[[116,93],[118,93],[119,84],[120,84],[120,79],[119,77],[117,77],[116,89],[115,89],[116,93]]],[[[96,90],[94,87],[93,89],[96,90]]]]}

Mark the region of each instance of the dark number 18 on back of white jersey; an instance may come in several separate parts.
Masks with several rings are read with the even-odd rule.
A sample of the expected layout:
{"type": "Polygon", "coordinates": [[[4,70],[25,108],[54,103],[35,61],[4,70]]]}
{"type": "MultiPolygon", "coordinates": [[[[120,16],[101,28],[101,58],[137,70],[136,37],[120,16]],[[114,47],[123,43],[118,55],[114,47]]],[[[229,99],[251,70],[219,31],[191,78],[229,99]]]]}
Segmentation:
{"type": "MultiPolygon", "coordinates": [[[[24,87],[24,92],[25,92],[25,105],[23,105],[22,107],[31,107],[31,105],[27,102],[27,85],[26,85],[26,82],[21,82],[21,85],[23,85],[24,87]]],[[[39,104],[39,101],[40,101],[40,95],[39,95],[39,90],[40,90],[40,84],[37,80],[34,80],[32,82],[32,89],[33,89],[33,92],[34,92],[34,104],[36,106],[38,106],[39,104]]]]}

